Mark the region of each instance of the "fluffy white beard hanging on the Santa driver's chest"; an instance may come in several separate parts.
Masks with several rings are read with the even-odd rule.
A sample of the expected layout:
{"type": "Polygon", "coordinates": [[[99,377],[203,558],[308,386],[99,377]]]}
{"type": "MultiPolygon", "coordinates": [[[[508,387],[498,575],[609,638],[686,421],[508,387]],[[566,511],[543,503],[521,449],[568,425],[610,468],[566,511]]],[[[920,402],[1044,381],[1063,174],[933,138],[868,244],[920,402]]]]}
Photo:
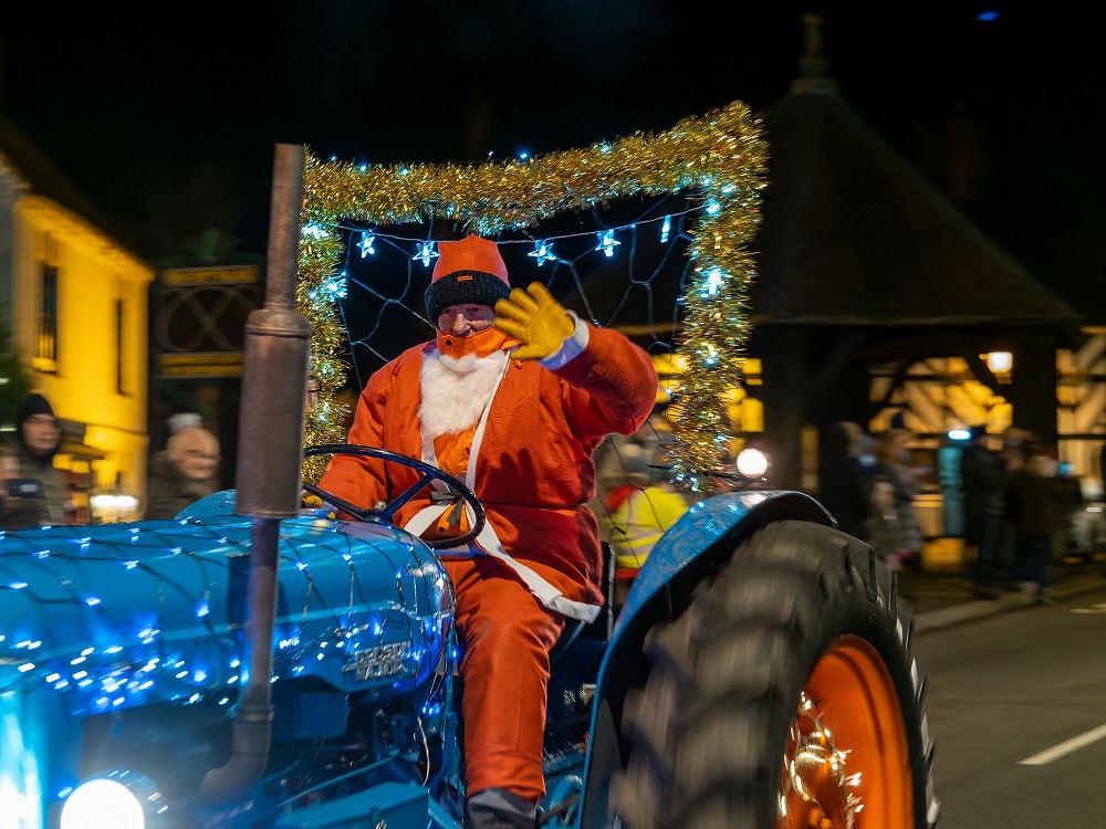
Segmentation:
{"type": "Polygon", "coordinates": [[[508,359],[507,351],[494,351],[487,357],[474,354],[449,357],[435,351],[422,357],[419,372],[422,393],[418,406],[422,439],[432,441],[440,434],[456,434],[474,427],[495,393],[508,359]]]}

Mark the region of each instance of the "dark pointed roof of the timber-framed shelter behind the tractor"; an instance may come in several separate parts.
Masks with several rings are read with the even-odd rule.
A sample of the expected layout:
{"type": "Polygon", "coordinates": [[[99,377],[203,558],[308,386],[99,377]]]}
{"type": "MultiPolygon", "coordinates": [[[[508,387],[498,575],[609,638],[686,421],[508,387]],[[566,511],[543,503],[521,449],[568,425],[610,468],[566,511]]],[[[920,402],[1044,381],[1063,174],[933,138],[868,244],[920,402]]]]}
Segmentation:
{"type": "Polygon", "coordinates": [[[758,324],[1077,319],[836,94],[792,94],[764,115],[764,127],[770,162],[751,295],[758,324]]]}

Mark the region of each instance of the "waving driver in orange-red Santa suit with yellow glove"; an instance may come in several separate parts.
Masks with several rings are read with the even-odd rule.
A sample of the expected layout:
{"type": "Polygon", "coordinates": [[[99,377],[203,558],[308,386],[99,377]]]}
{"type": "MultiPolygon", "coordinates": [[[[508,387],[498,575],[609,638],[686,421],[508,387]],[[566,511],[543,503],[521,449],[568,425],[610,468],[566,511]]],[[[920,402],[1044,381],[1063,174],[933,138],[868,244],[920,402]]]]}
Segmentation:
{"type": "MultiPolygon", "coordinates": [[[[568,619],[603,602],[593,453],[649,417],[657,375],[625,336],[565,311],[541,283],[511,290],[497,244],[441,242],[426,292],[432,342],[369,378],[349,443],[421,459],[463,481],[488,523],[439,550],[463,649],[466,827],[534,826],[545,794],[542,744],[550,650],[568,619]]],[[[392,501],[414,470],[336,455],[320,486],[353,504],[392,501]]],[[[456,535],[472,516],[429,491],[398,523],[456,535]]]]}

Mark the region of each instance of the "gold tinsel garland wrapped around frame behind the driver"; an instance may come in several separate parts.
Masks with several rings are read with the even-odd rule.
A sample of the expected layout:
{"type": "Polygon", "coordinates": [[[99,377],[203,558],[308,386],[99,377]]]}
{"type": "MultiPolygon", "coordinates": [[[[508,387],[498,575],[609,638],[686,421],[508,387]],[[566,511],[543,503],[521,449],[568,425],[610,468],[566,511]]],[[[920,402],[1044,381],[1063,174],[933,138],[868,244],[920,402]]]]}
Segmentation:
{"type": "MultiPolygon", "coordinates": [[[[343,330],[333,290],[344,254],[343,220],[378,227],[445,218],[493,237],[614,199],[693,192],[702,212],[688,248],[695,275],[682,301],[678,354],[687,370],[681,414],[672,423],[672,476],[696,490],[714,489],[711,473],[733,439],[722,393],[741,378],[737,357],[749,332],[747,292],[754,275],[745,245],[760,220],[765,160],[760,124],[741,102],[659,135],[636,133],[528,160],[382,166],[324,162],[309,154],[296,291],[314,328],[310,372],[317,402],[307,412],[307,444],[345,439],[345,407],[336,397],[345,379],[343,330]]],[[[304,476],[317,480],[324,464],[310,459],[304,476]]]]}

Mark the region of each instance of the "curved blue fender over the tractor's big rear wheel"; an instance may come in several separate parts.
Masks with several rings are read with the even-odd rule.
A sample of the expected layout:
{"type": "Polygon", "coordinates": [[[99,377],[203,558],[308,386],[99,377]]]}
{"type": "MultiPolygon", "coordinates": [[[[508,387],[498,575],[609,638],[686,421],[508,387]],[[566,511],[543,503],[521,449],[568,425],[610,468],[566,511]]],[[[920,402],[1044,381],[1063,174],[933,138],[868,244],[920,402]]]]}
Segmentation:
{"type": "Polygon", "coordinates": [[[615,623],[596,680],[586,780],[577,826],[607,826],[611,779],[625,764],[619,737],[628,688],[644,680],[645,637],[660,621],[670,621],[691,600],[696,586],[718,569],[742,541],[776,521],[806,521],[835,526],[817,501],[801,492],[728,493],[695,504],[653,548],[634,580],[615,623]]]}

